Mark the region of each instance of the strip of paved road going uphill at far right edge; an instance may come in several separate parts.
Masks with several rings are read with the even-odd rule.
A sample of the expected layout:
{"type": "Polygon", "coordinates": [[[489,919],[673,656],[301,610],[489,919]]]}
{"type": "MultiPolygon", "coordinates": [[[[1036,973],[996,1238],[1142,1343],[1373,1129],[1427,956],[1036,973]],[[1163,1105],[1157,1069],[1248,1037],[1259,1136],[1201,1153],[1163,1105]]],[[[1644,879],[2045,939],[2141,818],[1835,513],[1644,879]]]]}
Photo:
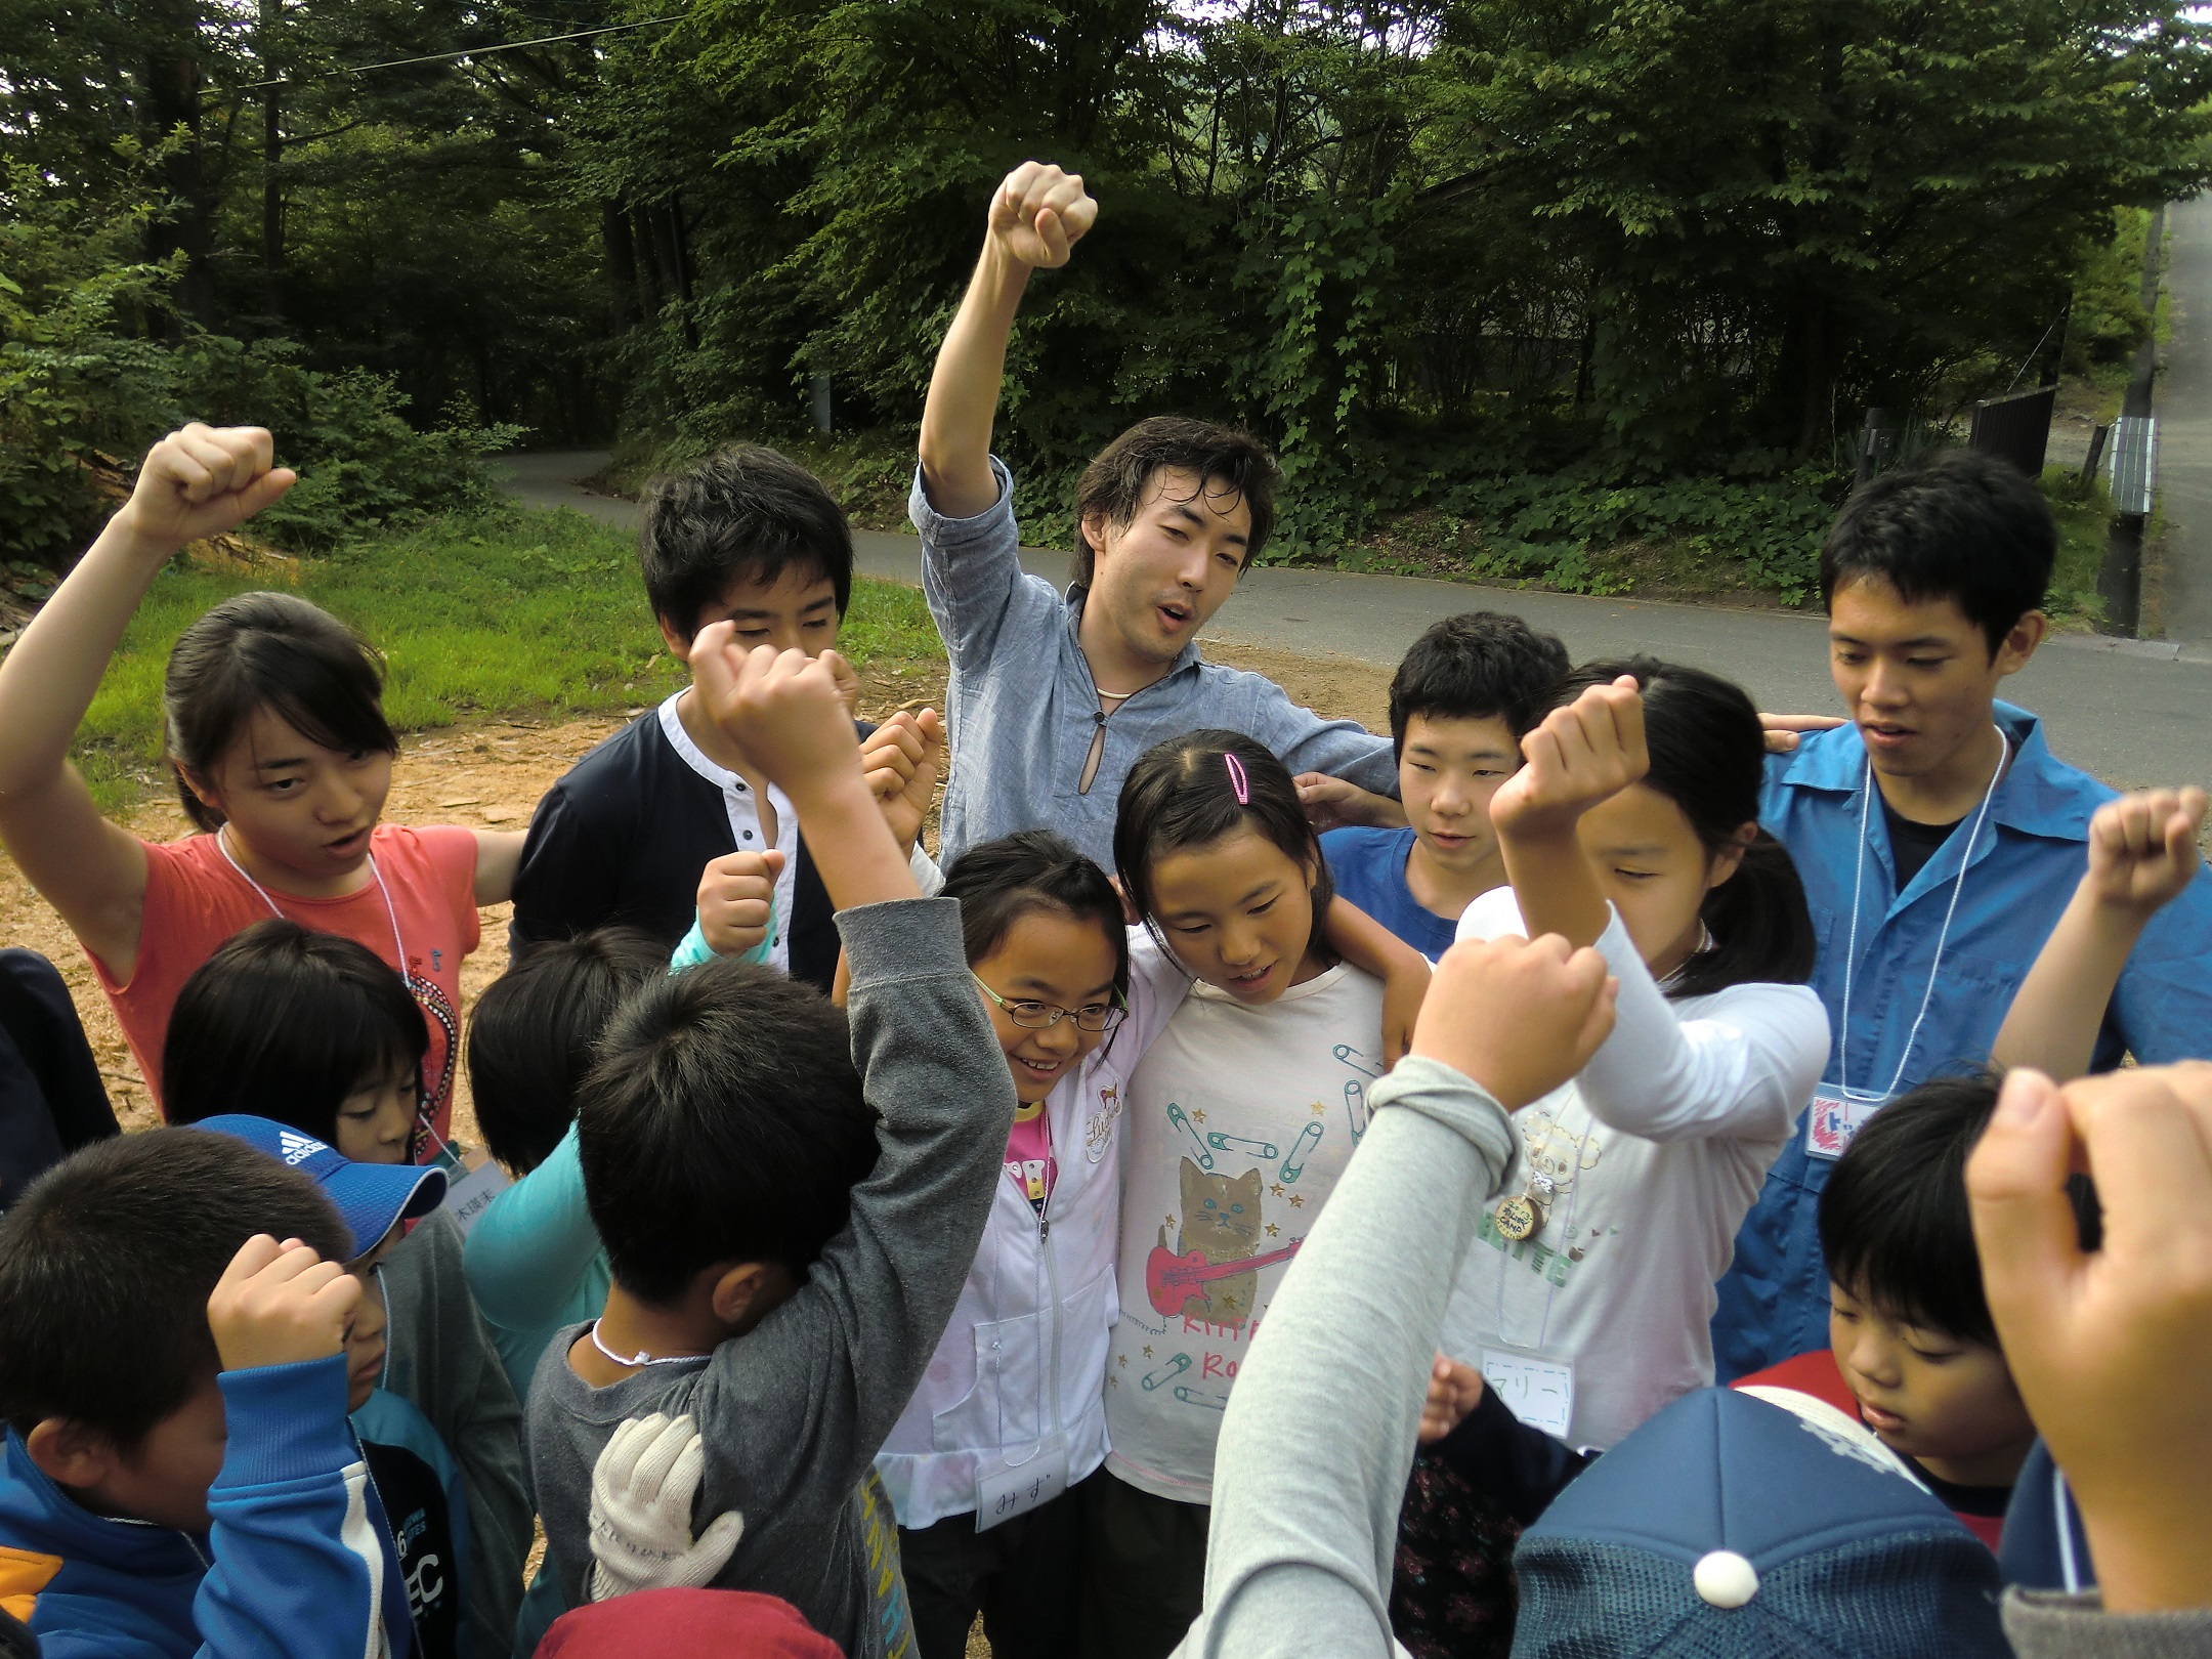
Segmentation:
{"type": "Polygon", "coordinates": [[[2159,376],[2168,639],[2212,639],[2212,195],[2168,208],[2172,338],[2159,376]]]}

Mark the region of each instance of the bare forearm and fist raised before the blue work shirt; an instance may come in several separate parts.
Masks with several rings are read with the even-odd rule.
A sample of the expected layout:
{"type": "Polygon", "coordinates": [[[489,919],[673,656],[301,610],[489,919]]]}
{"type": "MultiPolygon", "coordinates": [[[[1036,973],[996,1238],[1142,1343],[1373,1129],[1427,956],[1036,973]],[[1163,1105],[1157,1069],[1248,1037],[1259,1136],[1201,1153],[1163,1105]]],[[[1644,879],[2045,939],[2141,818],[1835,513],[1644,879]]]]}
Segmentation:
{"type": "Polygon", "coordinates": [[[2088,1071],[2128,951],[2203,860],[2203,790],[2143,790],[2108,801],[2088,825],[2088,869],[2035,967],[2020,982],[1991,1060],[2059,1082],[2088,1071]]]}

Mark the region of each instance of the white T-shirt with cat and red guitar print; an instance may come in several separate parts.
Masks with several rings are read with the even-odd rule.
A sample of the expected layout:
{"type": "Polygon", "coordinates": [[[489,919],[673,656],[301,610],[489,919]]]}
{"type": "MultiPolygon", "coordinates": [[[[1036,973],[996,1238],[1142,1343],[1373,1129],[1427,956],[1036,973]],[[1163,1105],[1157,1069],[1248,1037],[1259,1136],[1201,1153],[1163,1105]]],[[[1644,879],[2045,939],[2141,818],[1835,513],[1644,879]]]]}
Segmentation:
{"type": "Polygon", "coordinates": [[[1130,1077],[1106,1467],[1206,1504],[1267,1298],[1367,1133],[1383,982],[1338,964],[1248,1006],[1192,987],[1130,1077]]]}

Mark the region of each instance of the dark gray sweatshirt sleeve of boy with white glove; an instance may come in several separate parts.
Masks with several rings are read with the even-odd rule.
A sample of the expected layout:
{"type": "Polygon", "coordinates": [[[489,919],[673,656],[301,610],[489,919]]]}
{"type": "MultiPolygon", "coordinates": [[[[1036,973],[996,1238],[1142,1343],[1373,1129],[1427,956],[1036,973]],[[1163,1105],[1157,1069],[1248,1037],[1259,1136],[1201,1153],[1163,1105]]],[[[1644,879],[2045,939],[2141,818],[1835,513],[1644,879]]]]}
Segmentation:
{"type": "MultiPolygon", "coordinates": [[[[876,1108],[876,1170],[792,1301],[714,1349],[699,1385],[708,1493],[836,1509],[883,1449],[951,1321],[991,1217],[1013,1077],[960,947],[960,902],[838,911],[852,1055],[876,1108]]],[[[719,1506],[732,1506],[717,1500],[719,1506]]]]}

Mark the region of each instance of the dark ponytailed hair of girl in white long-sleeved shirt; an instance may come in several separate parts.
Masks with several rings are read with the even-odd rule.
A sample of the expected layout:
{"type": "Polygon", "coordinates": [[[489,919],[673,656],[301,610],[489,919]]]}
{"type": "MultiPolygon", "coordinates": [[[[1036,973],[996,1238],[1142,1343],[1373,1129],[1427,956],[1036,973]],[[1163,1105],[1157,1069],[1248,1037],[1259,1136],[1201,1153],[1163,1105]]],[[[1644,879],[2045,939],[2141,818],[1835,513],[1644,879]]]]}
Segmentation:
{"type": "Polygon", "coordinates": [[[1635,675],[1644,688],[1644,741],[1652,761],[1646,787],[1681,807],[1708,854],[1743,847],[1736,874],[1708,891],[1699,911],[1712,949],[1683,962],[1666,984],[1668,995],[1712,995],[1750,980],[1803,984],[1818,945],[1805,883],[1790,849],[1765,830],[1756,830],[1750,845],[1736,838],[1743,825],[1759,823],[1767,754],[1759,710],[1734,681],[1657,657],[1582,664],[1559,681],[1553,708],[1621,675],[1635,675]]]}

